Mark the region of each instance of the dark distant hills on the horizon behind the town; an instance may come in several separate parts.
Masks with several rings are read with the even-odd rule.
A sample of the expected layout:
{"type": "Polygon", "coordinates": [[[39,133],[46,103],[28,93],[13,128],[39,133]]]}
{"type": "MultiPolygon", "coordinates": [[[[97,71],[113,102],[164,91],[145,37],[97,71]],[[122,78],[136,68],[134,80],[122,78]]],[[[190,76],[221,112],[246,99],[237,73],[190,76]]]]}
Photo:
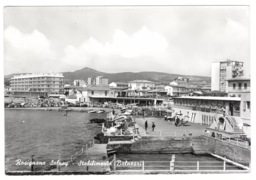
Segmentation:
{"type": "MultiPolygon", "coordinates": [[[[159,84],[164,84],[165,82],[173,81],[175,77],[188,77],[190,81],[209,81],[211,77],[205,76],[194,76],[194,75],[180,75],[180,74],[169,74],[169,73],[161,73],[161,72],[123,72],[123,73],[104,73],[100,71],[96,71],[94,69],[85,67],[83,69],[74,71],[74,72],[62,72],[66,81],[74,81],[74,79],[84,79],[87,80],[88,77],[96,77],[97,75],[103,75],[108,77],[109,83],[113,81],[123,81],[128,82],[132,80],[148,80],[153,81],[159,84]]],[[[22,73],[26,74],[26,73],[22,73]]],[[[5,78],[11,78],[16,74],[10,74],[4,76],[5,78]]]]}

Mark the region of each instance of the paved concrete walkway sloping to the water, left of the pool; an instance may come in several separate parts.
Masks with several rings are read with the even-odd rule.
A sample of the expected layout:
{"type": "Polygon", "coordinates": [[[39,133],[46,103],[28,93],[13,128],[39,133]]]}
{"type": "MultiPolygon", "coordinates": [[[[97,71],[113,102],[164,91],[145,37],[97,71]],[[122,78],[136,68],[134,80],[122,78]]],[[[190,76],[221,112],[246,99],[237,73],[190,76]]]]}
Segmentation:
{"type": "MultiPolygon", "coordinates": [[[[94,144],[92,147],[88,148],[84,154],[79,156],[74,160],[73,164],[69,164],[67,167],[61,166],[61,171],[86,171],[86,166],[79,166],[78,163],[83,161],[87,162],[87,156],[89,155],[88,160],[91,162],[94,160],[95,162],[108,162],[108,154],[107,154],[107,144],[94,144]],[[103,160],[103,156],[106,156],[106,159],[103,160]]],[[[88,166],[88,171],[110,171],[110,166],[88,166]]]]}

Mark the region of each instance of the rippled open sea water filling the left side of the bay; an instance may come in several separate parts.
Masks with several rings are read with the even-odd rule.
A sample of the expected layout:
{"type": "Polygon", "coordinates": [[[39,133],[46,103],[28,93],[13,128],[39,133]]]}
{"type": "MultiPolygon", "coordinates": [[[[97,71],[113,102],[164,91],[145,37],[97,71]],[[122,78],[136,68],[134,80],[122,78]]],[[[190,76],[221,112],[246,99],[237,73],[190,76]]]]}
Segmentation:
{"type": "MultiPolygon", "coordinates": [[[[105,118],[106,114],[59,111],[5,110],[6,170],[30,170],[16,165],[16,160],[45,161],[70,160],[72,154],[92,141],[100,133],[101,126],[90,123],[93,118],[105,118]]],[[[48,166],[36,166],[45,170],[48,166]]]]}

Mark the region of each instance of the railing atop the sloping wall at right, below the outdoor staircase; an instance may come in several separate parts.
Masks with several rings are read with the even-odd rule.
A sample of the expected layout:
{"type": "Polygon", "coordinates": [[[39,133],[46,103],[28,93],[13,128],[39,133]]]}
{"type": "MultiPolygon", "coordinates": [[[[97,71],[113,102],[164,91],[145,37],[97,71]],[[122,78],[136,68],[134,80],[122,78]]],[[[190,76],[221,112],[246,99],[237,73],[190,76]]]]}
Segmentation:
{"type": "MultiPolygon", "coordinates": [[[[212,131],[203,130],[203,135],[212,137],[212,131]]],[[[230,136],[226,136],[226,135],[222,135],[222,134],[217,135],[217,133],[215,133],[215,137],[212,137],[212,138],[222,140],[222,141],[225,141],[225,142],[229,142],[229,143],[235,144],[237,146],[250,148],[249,147],[250,143],[247,140],[242,140],[242,139],[239,139],[239,138],[234,138],[234,137],[230,137],[230,136]]]]}

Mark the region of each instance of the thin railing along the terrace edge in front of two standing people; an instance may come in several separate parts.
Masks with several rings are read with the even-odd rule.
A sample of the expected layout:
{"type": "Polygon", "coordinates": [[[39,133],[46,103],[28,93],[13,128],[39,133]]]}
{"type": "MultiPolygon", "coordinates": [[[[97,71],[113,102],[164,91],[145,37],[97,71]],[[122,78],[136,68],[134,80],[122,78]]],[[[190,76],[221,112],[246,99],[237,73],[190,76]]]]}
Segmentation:
{"type": "Polygon", "coordinates": [[[176,136],[192,136],[191,131],[149,131],[146,133],[144,132],[144,135],[141,136],[169,136],[169,137],[176,137],[176,136]]]}

